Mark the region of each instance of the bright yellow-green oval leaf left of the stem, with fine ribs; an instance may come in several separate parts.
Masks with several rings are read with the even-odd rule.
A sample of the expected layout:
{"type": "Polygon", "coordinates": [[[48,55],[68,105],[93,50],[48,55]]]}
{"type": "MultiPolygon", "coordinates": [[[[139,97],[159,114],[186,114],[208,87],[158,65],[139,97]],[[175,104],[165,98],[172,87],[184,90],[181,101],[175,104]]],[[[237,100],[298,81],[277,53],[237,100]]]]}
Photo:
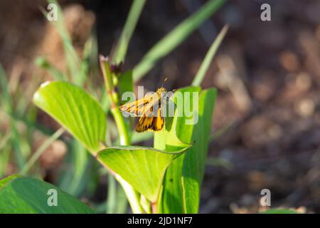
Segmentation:
{"type": "Polygon", "coordinates": [[[105,113],[95,98],[67,82],[43,83],[33,102],[63,125],[90,152],[100,149],[105,140],[105,113]]]}

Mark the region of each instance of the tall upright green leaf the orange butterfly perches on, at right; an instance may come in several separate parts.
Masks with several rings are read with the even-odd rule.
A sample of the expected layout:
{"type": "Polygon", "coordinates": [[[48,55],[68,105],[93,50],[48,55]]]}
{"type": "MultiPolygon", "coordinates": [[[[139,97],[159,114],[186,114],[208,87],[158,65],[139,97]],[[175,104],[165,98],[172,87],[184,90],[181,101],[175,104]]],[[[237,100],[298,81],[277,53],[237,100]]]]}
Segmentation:
{"type": "Polygon", "coordinates": [[[183,88],[176,91],[175,102],[177,102],[177,92],[183,94],[183,103],[187,98],[190,99],[193,115],[190,118],[185,115],[177,115],[179,111],[177,110],[171,128],[155,134],[154,147],[163,150],[164,147],[173,147],[177,141],[194,142],[194,144],[169,166],[164,178],[162,204],[159,210],[164,213],[196,213],[199,206],[216,91],[208,89],[201,92],[199,87],[183,88]],[[194,103],[198,105],[198,108],[193,106],[193,93],[199,94],[198,102],[194,103]],[[186,120],[192,118],[197,120],[197,116],[196,124],[186,125],[186,120]]]}

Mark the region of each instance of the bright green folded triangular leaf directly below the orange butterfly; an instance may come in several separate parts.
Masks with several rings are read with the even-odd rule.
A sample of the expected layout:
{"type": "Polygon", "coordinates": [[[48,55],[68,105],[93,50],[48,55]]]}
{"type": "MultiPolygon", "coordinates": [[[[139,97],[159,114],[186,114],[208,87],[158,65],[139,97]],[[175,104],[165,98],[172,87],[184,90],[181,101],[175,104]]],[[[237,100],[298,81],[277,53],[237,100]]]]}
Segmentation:
{"type": "Polygon", "coordinates": [[[166,168],[189,146],[176,147],[174,152],[152,147],[108,147],[101,150],[97,158],[151,202],[156,202],[166,168]]]}

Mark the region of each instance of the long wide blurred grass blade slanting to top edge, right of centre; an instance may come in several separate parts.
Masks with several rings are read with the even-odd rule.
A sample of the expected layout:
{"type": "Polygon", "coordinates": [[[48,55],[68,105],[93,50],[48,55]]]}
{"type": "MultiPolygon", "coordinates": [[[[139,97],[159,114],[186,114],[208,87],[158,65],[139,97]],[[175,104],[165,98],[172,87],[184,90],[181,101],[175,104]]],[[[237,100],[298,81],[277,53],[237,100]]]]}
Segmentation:
{"type": "Polygon", "coordinates": [[[225,3],[225,0],[211,0],[201,6],[196,13],[189,16],[188,19],[182,21],[170,33],[161,38],[142,58],[142,60],[134,67],[134,81],[138,81],[151,68],[154,67],[157,61],[168,55],[179,44],[181,44],[193,31],[198,28],[206,19],[208,19],[220,6],[225,3]]]}

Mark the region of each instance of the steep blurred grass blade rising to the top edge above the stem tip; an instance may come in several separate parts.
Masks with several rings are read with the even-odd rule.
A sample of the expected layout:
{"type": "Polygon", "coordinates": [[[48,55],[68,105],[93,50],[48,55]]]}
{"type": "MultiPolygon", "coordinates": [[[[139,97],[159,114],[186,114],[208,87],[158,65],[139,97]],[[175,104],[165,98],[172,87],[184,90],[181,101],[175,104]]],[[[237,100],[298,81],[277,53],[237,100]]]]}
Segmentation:
{"type": "Polygon", "coordinates": [[[127,48],[129,46],[129,41],[132,37],[132,33],[134,32],[134,28],[136,28],[137,21],[142,12],[142,9],[144,8],[145,3],[145,0],[136,0],[132,3],[127,21],[124,24],[124,29],[119,38],[119,43],[117,44],[117,47],[114,51],[113,61],[115,61],[116,63],[124,61],[127,53],[127,48]]]}

